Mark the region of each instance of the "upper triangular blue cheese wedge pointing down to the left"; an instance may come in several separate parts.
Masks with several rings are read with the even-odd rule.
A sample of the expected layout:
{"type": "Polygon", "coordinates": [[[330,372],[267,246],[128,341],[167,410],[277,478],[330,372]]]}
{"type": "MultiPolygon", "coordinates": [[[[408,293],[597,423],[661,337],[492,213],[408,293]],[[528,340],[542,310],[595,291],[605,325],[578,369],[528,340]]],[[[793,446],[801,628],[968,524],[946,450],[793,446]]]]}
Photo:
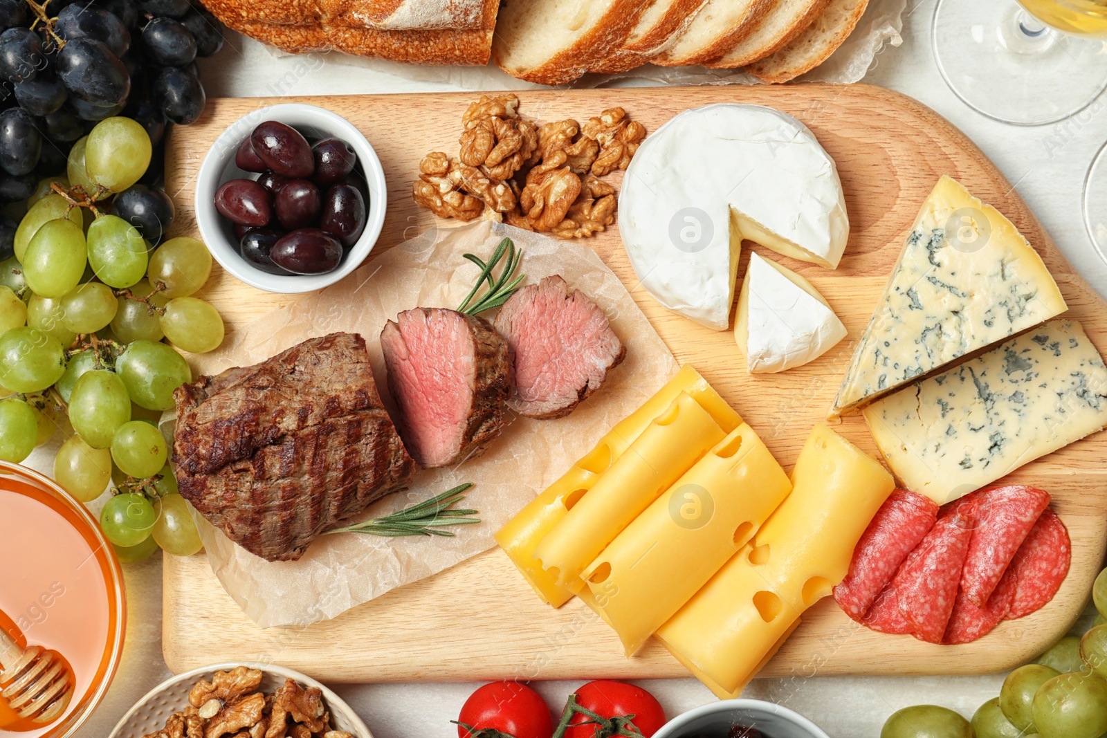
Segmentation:
{"type": "Polygon", "coordinates": [[[942,177],[853,350],[830,417],[1066,309],[1042,258],[1014,225],[942,177]]]}

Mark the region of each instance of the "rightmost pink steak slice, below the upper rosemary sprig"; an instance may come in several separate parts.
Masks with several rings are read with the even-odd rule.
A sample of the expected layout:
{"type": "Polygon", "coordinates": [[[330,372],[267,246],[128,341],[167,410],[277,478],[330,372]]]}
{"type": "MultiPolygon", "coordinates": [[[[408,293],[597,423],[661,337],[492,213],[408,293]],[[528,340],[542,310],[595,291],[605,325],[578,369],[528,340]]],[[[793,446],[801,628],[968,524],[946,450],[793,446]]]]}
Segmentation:
{"type": "Polygon", "coordinates": [[[496,330],[515,366],[508,405],[527,417],[568,415],[627,356],[603,311],[557,274],[513,294],[496,330]]]}

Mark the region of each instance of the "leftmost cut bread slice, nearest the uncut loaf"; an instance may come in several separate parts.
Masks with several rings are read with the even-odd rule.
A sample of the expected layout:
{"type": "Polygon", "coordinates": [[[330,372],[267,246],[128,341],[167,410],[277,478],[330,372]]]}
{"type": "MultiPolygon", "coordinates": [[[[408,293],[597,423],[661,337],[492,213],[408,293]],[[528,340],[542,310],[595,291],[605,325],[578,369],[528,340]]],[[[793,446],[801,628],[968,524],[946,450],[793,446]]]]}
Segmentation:
{"type": "Polygon", "coordinates": [[[505,0],[492,56],[514,77],[567,84],[620,49],[650,0],[505,0]]]}

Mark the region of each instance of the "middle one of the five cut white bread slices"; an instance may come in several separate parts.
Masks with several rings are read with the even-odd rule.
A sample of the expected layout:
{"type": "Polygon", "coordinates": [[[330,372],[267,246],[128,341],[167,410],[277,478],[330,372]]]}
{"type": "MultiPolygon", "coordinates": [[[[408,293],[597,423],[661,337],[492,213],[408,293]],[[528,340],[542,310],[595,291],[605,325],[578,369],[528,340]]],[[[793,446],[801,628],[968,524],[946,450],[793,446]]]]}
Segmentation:
{"type": "Polygon", "coordinates": [[[745,39],[784,0],[708,0],[654,64],[689,66],[721,56],[745,39]]]}

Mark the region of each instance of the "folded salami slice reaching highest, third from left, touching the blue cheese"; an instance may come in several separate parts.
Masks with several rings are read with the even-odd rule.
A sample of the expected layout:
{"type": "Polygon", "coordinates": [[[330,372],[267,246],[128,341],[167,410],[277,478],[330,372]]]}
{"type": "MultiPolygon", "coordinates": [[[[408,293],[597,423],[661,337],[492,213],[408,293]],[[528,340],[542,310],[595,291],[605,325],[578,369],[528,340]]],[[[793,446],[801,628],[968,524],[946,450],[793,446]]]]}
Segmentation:
{"type": "Polygon", "coordinates": [[[969,602],[983,609],[1018,547],[1049,507],[1049,493],[1034,487],[993,487],[961,499],[965,505],[960,510],[973,519],[961,590],[969,602]]]}

